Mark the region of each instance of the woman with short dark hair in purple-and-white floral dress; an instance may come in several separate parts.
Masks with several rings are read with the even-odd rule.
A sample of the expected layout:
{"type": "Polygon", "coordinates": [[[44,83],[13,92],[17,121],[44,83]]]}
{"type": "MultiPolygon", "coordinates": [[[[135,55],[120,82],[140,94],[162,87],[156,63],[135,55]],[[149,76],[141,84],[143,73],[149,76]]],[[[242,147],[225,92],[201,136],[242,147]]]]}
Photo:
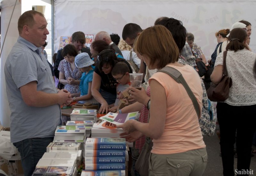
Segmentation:
{"type": "Polygon", "coordinates": [[[82,72],[75,65],[76,55],[76,47],[72,44],[67,44],[62,50],[64,60],[60,61],[58,67],[60,83],[64,84],[64,89],[67,89],[70,93],[80,92],[79,84],[82,72]]]}

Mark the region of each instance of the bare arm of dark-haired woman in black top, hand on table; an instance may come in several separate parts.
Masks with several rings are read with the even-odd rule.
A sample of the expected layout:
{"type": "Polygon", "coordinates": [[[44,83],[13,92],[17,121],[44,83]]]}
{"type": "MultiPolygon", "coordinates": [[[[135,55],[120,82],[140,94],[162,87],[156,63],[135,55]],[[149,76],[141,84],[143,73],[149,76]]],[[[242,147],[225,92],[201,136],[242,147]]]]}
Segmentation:
{"type": "Polygon", "coordinates": [[[92,96],[101,104],[99,113],[105,112],[108,113],[108,103],[107,101],[101,96],[99,90],[100,90],[100,84],[101,84],[101,77],[97,73],[93,72],[92,77],[92,96]]]}

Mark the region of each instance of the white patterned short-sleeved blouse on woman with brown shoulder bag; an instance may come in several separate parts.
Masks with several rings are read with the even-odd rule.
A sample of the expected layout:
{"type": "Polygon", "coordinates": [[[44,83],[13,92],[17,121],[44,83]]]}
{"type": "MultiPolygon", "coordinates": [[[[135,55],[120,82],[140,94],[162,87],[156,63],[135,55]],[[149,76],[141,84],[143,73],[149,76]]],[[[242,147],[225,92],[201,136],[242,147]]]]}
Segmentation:
{"type": "MultiPolygon", "coordinates": [[[[231,106],[250,106],[256,104],[256,79],[253,65],[256,54],[246,49],[228,51],[226,65],[228,76],[232,78],[228,99],[224,102],[231,106]]],[[[223,52],[217,56],[215,66],[223,65],[223,52]]]]}

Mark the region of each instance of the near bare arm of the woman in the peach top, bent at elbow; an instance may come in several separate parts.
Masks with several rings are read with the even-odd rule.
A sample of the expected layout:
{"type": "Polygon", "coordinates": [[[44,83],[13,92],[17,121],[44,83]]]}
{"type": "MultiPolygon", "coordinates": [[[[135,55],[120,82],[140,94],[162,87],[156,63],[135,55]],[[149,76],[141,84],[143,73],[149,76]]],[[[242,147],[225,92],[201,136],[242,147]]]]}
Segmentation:
{"type": "Polygon", "coordinates": [[[123,128],[125,132],[131,133],[135,130],[144,135],[158,139],[164,132],[164,124],[166,118],[166,94],[164,87],[152,79],[150,82],[150,119],[149,123],[140,123],[136,120],[128,120],[118,128],[123,128]]]}

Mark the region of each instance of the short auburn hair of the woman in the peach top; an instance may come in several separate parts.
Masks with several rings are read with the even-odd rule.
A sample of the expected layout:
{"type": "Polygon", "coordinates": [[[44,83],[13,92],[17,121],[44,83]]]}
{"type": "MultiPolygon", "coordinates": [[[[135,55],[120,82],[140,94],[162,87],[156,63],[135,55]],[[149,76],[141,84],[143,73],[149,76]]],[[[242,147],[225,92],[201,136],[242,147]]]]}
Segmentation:
{"type": "Polygon", "coordinates": [[[179,49],[171,32],[162,25],[146,28],[134,42],[133,49],[146,55],[150,66],[156,64],[157,69],[179,60],[179,49]]]}

